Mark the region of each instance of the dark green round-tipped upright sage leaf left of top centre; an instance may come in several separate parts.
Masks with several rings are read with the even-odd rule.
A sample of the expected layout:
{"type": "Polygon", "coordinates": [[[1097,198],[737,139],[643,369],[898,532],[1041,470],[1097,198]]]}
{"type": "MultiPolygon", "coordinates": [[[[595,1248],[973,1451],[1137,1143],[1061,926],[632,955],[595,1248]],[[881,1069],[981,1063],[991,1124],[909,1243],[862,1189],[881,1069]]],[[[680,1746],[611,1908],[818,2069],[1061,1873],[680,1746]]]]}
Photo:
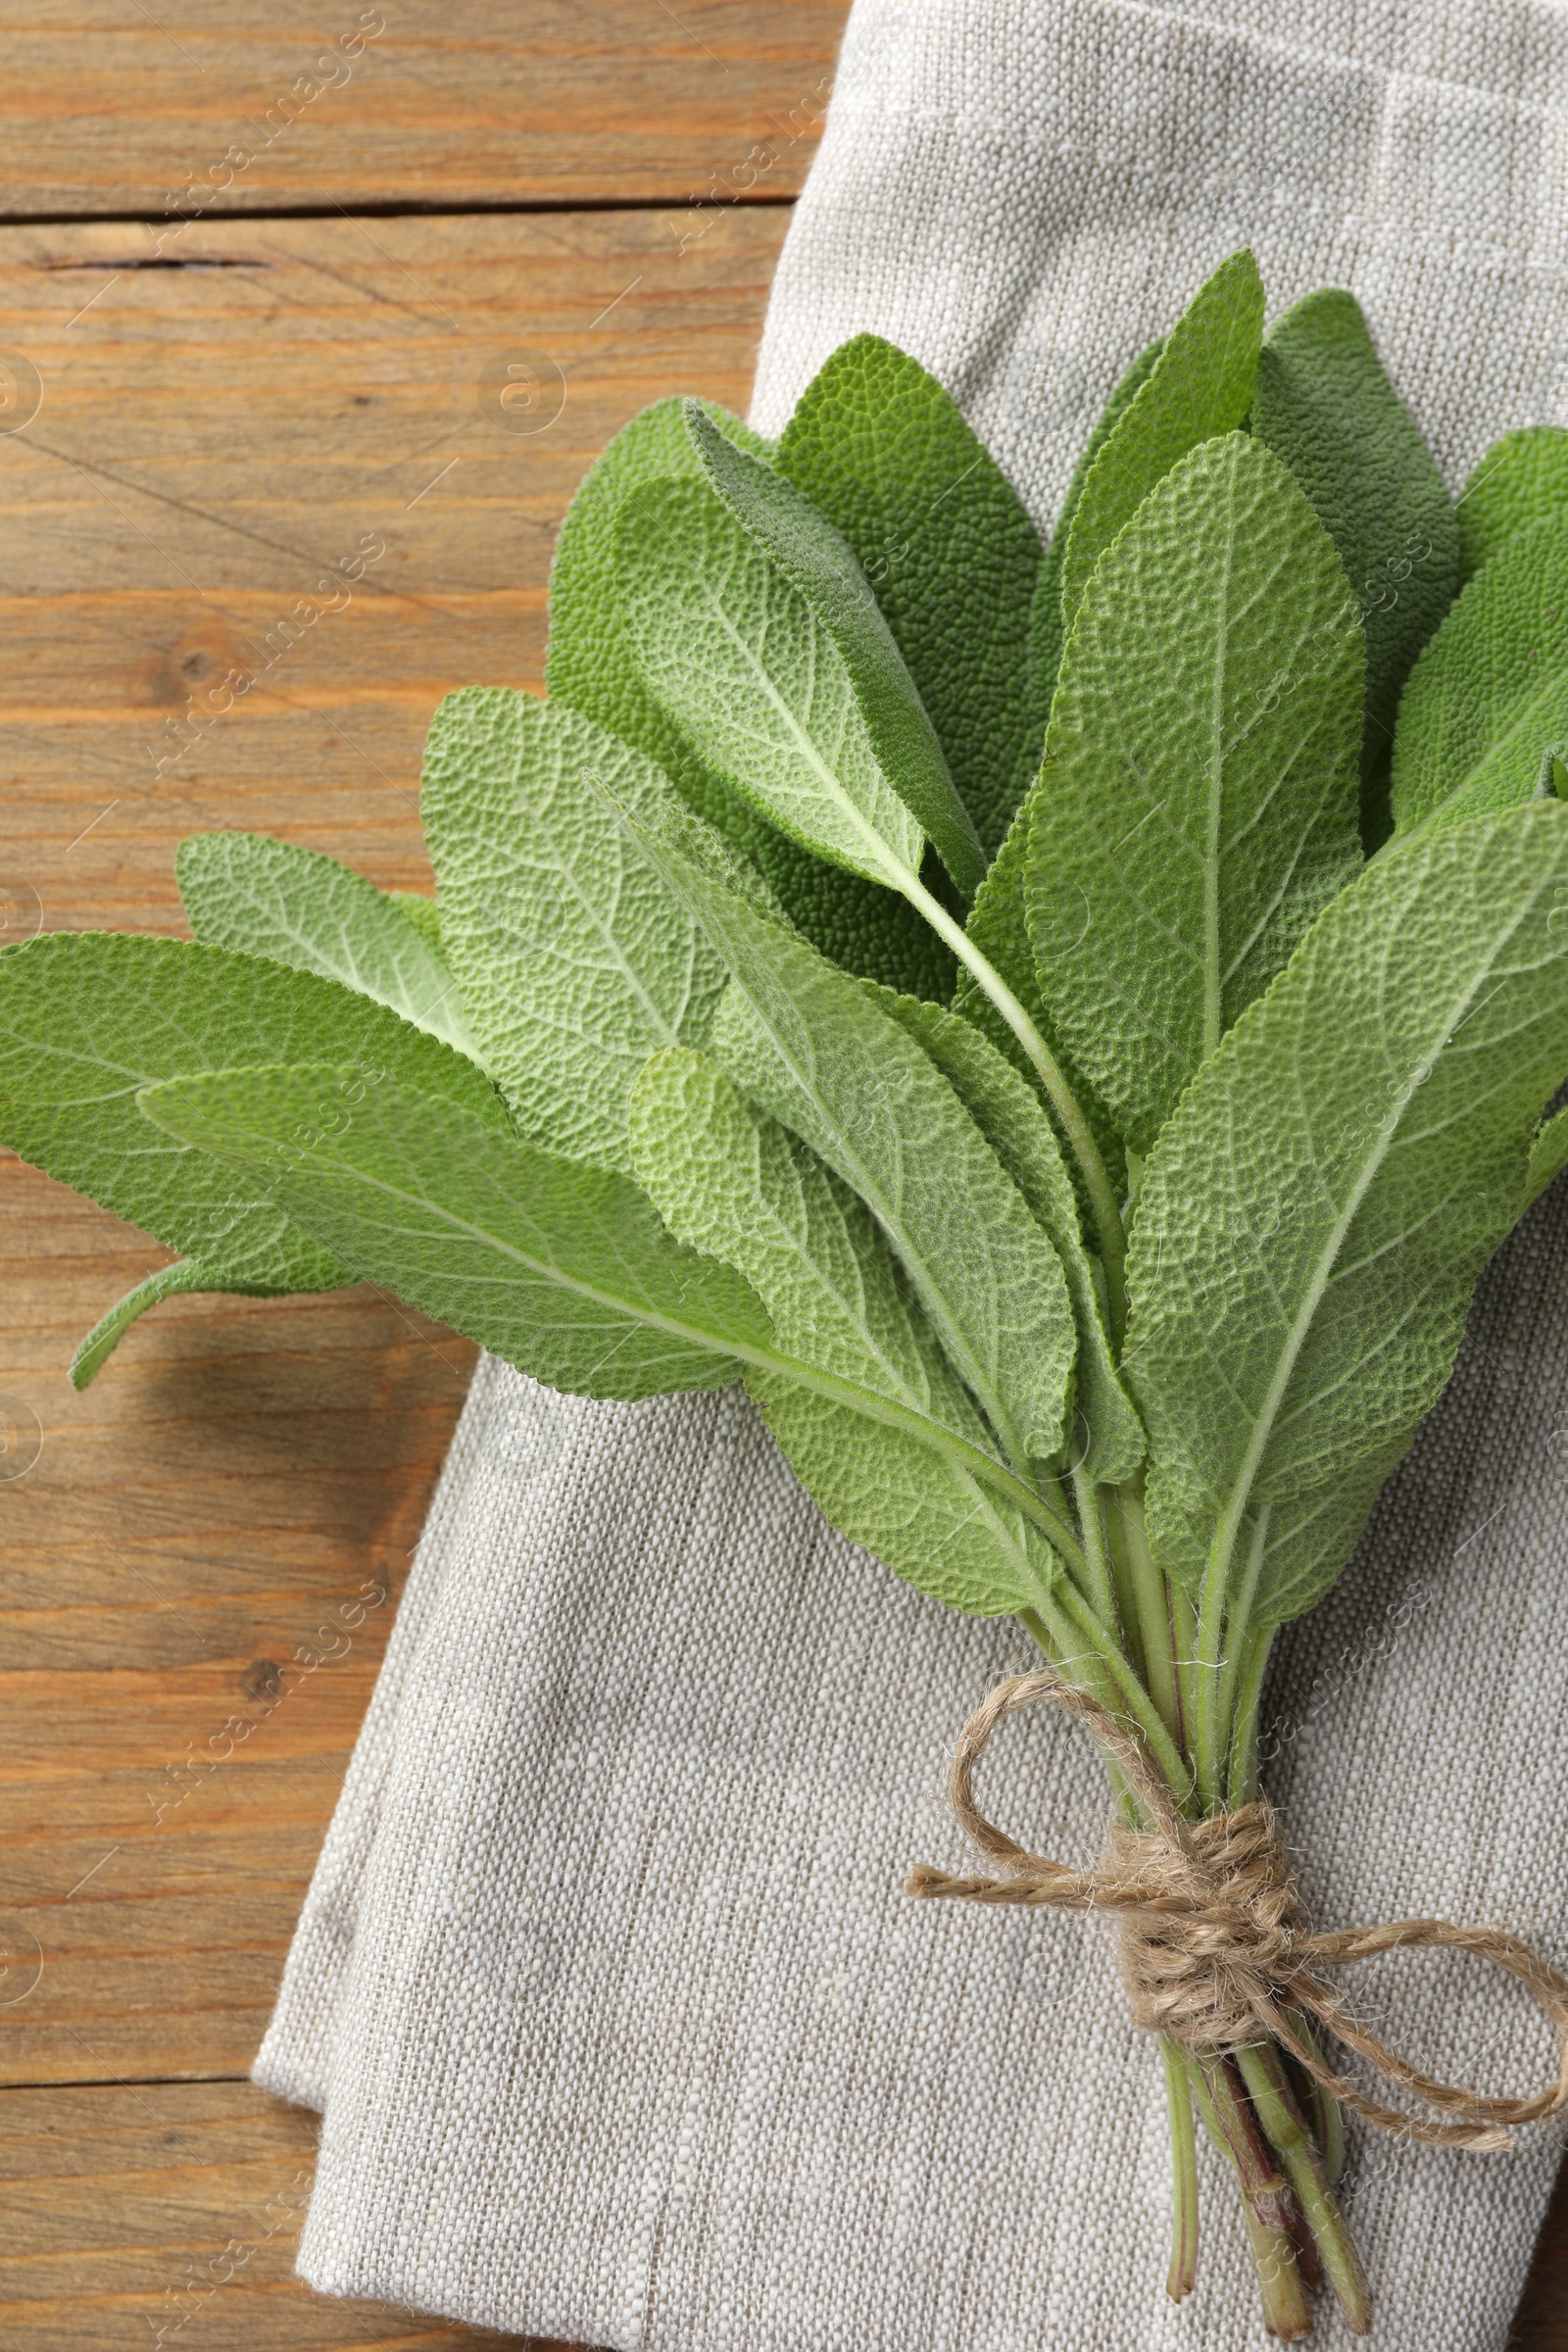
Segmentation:
{"type": "Polygon", "coordinates": [[[936,376],[879,334],[853,336],[820,367],[776,463],[865,567],[994,851],[1018,797],[1009,779],[1034,734],[1027,659],[1041,550],[1018,492],[936,376]]]}

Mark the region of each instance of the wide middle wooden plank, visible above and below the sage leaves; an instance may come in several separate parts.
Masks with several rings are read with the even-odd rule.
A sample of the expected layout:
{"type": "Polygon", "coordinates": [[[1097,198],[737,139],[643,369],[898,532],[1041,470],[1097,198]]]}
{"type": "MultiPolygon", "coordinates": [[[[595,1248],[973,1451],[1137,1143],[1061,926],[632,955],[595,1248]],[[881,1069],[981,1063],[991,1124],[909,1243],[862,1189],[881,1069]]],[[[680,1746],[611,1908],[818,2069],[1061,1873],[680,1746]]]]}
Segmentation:
{"type": "MultiPolygon", "coordinates": [[[[0,435],[0,877],[49,927],[179,929],[174,844],[212,823],[428,882],[428,715],[538,684],[588,461],[663,393],[745,400],[771,212],[684,254],[625,214],[367,226],[202,228],[252,266],[129,273],[78,327],[61,289],[113,280],[125,233],[0,235],[0,341],[47,393],[0,435]],[[517,322],[564,374],[538,433],[477,400],[517,322]],[[266,628],[367,534],[381,562],[268,668],[266,628]],[[219,661],[256,687],[155,776],[219,661]]],[[[0,2009],[9,2082],[249,2063],[381,1653],[364,1588],[402,1583],[473,1359],[367,1291],[181,1301],[75,1397],[78,1336],[160,1261],[0,1162],[0,1395],[42,1435],[0,1482],[0,1915],[16,1971],[45,1955],[0,2009]],[[348,1651],[301,1672],[322,1623],[348,1651]]]]}

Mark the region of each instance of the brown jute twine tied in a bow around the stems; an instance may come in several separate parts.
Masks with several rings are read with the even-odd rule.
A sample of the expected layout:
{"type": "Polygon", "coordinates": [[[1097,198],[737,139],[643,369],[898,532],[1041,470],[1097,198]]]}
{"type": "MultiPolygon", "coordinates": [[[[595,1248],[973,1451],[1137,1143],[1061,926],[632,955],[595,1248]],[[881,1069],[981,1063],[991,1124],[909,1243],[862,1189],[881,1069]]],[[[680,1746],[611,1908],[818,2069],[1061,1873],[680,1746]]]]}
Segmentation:
{"type": "Polygon", "coordinates": [[[1352,2114],[1429,2147],[1509,2147],[1519,2124],[1537,2124],[1568,2107],[1568,1978],[1519,1936],[1450,1926],[1446,1919],[1392,1919],[1319,1933],[1302,1907],[1267,1799],[1211,1820],[1187,1820],[1128,1726],[1058,1675],[1018,1675],[997,1684],[964,1724],[950,1795],[961,1828],[1006,1875],[959,1879],[922,1867],[905,1891],[959,1903],[1114,1912],[1121,1980],[1133,2020],[1147,2032],[1215,2053],[1272,2039],[1352,2114]],[[1004,1715],[1037,1698],[1053,1700],[1093,1731],[1150,1823],[1147,1830],[1117,1823],[1098,1870],[1067,1870],[1027,1853],[976,1806],[973,1773],[992,1731],[1004,1715]],[[1472,1952],[1526,1987],[1559,2039],[1559,2072],[1547,2091],[1535,2098],[1481,2098],[1422,2074],[1368,2032],[1321,1973],[1347,1959],[1418,1945],[1472,1952]],[[1305,2018],[1316,2018],[1373,2072],[1434,2112],[1403,2114],[1368,2098],[1326,2065],[1302,2032],[1305,2018]]]}

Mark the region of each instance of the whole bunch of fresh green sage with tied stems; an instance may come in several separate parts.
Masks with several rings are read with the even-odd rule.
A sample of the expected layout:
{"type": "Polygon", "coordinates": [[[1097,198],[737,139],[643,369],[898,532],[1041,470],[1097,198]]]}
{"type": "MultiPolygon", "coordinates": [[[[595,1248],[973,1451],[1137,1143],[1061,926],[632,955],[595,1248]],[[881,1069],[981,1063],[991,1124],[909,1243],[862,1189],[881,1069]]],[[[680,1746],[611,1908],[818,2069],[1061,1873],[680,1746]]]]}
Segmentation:
{"type": "MultiPolygon", "coordinates": [[[[562,1390],[745,1381],[846,1536],[1027,1628],[1145,1886],[1258,1816],[1272,1637],[1568,1160],[1568,433],[1455,508],[1354,299],[1265,334],[1241,252],[1041,548],[858,336],[776,447],[625,426],[548,687],[437,710],[435,901],[214,833],[193,941],[0,953],[5,1141],[179,1254],[73,1378],[174,1291],[369,1277],[562,1390]]],[[[1269,2326],[1321,2265],[1363,2328],[1279,2018],[1166,2030],[1171,2293],[1197,2105],[1269,2326]]]]}

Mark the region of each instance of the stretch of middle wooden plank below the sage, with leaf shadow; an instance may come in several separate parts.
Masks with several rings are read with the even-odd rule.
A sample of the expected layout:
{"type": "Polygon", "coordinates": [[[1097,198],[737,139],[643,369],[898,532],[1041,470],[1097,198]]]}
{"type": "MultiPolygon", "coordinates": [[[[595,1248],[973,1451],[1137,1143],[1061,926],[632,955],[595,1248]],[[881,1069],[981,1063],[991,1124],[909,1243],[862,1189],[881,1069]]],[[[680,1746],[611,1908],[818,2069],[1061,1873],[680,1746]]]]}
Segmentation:
{"type": "Polygon", "coordinates": [[[0,2079],[242,2072],[473,1350],[371,1291],[183,1301],[78,1397],[162,1251],[0,1174],[40,1446],[0,1489],[0,2079]]]}

